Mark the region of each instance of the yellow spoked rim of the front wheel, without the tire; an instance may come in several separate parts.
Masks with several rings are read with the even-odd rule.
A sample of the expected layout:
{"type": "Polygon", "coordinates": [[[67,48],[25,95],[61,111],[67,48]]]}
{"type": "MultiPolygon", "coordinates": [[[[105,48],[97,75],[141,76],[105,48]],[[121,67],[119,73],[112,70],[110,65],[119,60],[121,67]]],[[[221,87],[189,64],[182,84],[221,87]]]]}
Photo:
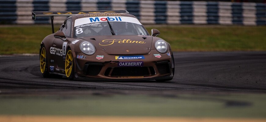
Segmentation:
{"type": "Polygon", "coordinates": [[[65,57],[65,75],[66,75],[66,77],[69,77],[71,75],[72,66],[73,66],[72,51],[68,50],[68,53],[65,57]]]}

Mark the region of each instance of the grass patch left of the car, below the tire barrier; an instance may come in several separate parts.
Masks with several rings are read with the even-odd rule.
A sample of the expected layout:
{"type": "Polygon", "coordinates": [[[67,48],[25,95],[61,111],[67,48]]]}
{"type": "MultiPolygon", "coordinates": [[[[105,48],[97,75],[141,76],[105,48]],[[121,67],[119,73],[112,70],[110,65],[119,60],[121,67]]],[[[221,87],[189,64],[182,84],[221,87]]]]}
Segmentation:
{"type": "Polygon", "coordinates": [[[39,53],[42,39],[49,34],[51,27],[44,25],[0,27],[0,54],[39,53]]]}

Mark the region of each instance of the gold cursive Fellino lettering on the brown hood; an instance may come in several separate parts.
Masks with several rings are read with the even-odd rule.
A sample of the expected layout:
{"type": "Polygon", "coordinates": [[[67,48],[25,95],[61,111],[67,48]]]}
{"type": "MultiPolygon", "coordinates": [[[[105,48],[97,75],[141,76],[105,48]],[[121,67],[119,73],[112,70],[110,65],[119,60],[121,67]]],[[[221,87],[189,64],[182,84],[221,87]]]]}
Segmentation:
{"type": "Polygon", "coordinates": [[[138,44],[145,44],[145,41],[132,41],[130,39],[106,39],[102,40],[102,43],[99,43],[99,45],[102,46],[108,46],[108,45],[113,45],[114,43],[138,43],[138,44]]]}

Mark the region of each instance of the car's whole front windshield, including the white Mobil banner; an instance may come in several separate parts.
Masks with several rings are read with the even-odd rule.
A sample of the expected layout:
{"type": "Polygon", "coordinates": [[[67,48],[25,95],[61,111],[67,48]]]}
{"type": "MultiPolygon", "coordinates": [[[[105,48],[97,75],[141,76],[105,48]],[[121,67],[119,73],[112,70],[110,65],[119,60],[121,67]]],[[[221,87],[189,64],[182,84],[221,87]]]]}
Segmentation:
{"type": "Polygon", "coordinates": [[[115,35],[148,35],[143,25],[134,17],[103,16],[76,19],[74,37],[112,35],[107,20],[112,26],[115,35]]]}

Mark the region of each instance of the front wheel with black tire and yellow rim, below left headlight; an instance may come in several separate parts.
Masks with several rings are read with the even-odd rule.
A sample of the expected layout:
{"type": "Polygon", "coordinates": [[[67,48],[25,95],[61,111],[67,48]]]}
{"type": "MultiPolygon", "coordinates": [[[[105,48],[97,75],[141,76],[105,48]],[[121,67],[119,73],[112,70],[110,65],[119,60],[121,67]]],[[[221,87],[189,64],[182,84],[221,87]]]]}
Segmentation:
{"type": "Polygon", "coordinates": [[[65,74],[68,80],[74,80],[74,58],[70,48],[67,50],[65,58],[65,74]]]}

